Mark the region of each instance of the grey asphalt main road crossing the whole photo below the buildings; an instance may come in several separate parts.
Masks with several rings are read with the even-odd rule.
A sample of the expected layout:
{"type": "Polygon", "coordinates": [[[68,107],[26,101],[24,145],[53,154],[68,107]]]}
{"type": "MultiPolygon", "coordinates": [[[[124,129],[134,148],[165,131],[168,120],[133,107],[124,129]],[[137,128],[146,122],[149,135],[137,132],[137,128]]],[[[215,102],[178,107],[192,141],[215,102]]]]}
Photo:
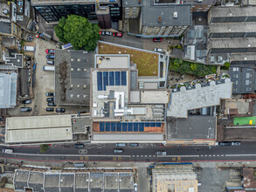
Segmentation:
{"type": "MultiPolygon", "coordinates": [[[[73,146],[51,146],[45,154],[39,147],[11,147],[14,154],[0,158],[28,161],[256,161],[256,142],[243,142],[230,147],[160,147],[159,144],[140,144],[139,147],[114,147],[114,144],[86,144],[82,151],[73,146]],[[122,148],[122,154],[114,154],[122,148]],[[166,151],[157,156],[156,151],[166,151]]],[[[2,150],[1,150],[2,151],[2,150]]]]}

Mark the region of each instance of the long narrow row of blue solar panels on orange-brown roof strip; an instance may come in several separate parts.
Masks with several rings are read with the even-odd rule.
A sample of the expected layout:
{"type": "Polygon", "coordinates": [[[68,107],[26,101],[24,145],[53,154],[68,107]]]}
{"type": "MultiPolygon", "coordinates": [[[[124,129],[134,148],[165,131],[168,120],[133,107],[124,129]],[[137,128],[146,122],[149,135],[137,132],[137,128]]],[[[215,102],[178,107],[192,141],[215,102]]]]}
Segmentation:
{"type": "Polygon", "coordinates": [[[100,122],[100,132],[144,132],[144,127],[161,127],[161,123],[100,122]]]}

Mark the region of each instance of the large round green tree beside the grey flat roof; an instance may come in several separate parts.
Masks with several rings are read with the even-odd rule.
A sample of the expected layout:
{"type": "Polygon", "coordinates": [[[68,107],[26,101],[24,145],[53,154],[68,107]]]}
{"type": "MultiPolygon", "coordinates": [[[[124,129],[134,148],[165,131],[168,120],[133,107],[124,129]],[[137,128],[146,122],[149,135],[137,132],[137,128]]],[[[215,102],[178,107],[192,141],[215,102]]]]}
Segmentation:
{"type": "Polygon", "coordinates": [[[94,51],[100,38],[100,27],[97,24],[91,24],[86,17],[76,15],[61,17],[54,30],[59,41],[71,43],[75,50],[83,48],[94,51]]]}

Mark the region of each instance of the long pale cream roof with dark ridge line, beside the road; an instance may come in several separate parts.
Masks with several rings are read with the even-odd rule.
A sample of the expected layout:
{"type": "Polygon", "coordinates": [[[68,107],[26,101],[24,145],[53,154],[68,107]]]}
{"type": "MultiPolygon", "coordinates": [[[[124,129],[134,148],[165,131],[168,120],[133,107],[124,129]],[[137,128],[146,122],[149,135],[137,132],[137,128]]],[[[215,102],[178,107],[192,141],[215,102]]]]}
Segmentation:
{"type": "Polygon", "coordinates": [[[5,127],[5,143],[73,139],[70,115],[7,118],[5,127]]]}

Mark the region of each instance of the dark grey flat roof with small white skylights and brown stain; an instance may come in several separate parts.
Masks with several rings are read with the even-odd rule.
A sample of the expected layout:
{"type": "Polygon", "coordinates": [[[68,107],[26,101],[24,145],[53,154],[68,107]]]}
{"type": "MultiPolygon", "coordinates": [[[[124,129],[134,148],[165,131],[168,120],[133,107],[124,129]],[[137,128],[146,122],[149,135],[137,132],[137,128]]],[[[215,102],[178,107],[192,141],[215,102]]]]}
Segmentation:
{"type": "Polygon", "coordinates": [[[90,69],[94,52],[55,52],[55,103],[88,106],[90,102],[90,69]]]}

